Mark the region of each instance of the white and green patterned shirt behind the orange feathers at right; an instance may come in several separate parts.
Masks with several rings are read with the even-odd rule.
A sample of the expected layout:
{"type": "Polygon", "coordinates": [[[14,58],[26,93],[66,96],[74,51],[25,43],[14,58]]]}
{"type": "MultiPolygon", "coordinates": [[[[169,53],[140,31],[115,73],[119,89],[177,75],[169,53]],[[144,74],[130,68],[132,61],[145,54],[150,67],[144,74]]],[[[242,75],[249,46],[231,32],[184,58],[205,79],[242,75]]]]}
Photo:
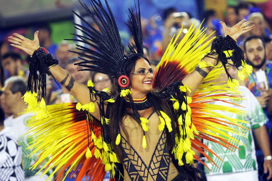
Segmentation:
{"type": "MultiPolygon", "coordinates": [[[[239,92],[243,92],[241,96],[245,100],[230,100],[231,102],[234,102],[237,105],[243,106],[237,106],[237,105],[231,105],[226,102],[216,101],[213,102],[213,104],[217,105],[224,105],[228,107],[234,107],[237,109],[242,109],[247,112],[246,115],[238,115],[231,112],[224,112],[224,111],[218,111],[218,113],[229,117],[233,119],[240,119],[240,120],[246,120],[249,123],[242,123],[245,128],[250,129],[250,131],[247,131],[246,137],[239,136],[239,135],[233,135],[232,133],[228,133],[229,135],[232,135],[234,138],[236,138],[238,141],[240,141],[242,144],[236,144],[234,143],[234,146],[237,146],[239,149],[236,149],[235,151],[231,151],[229,149],[226,149],[225,147],[216,144],[211,141],[203,140],[203,143],[208,145],[211,150],[213,150],[222,160],[223,162],[218,159],[217,157],[212,157],[212,155],[208,152],[209,156],[213,158],[213,161],[218,165],[212,165],[209,162],[205,162],[207,166],[212,170],[210,171],[208,168],[205,167],[205,173],[206,175],[219,175],[224,173],[235,173],[235,172],[246,172],[246,171],[252,171],[258,169],[258,163],[255,156],[255,144],[252,138],[252,129],[259,128],[260,126],[263,126],[267,122],[267,117],[265,113],[263,112],[260,103],[256,99],[256,97],[250,92],[249,89],[246,87],[240,86],[239,92]]],[[[236,128],[235,125],[229,125],[232,128],[236,128]]]]}

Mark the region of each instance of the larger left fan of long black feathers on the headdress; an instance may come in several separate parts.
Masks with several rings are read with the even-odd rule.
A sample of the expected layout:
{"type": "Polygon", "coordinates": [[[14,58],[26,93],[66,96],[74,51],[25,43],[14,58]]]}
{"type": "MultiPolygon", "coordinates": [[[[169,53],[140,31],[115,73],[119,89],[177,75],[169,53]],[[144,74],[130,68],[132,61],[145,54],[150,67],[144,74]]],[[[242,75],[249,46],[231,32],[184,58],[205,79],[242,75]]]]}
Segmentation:
{"type": "Polygon", "coordinates": [[[107,0],[105,0],[105,2],[109,13],[103,8],[100,0],[90,0],[92,11],[86,4],[80,2],[99,30],[96,30],[79,14],[73,12],[88,28],[74,23],[75,28],[83,32],[84,36],[72,34],[79,39],[66,40],[81,42],[91,47],[87,48],[77,45],[76,49],[81,52],[71,51],[82,56],[80,59],[83,61],[75,65],[88,68],[83,70],[100,72],[116,78],[118,76],[116,71],[118,63],[122,60],[122,57],[124,57],[124,46],[121,42],[119,31],[109,4],[107,0]]]}

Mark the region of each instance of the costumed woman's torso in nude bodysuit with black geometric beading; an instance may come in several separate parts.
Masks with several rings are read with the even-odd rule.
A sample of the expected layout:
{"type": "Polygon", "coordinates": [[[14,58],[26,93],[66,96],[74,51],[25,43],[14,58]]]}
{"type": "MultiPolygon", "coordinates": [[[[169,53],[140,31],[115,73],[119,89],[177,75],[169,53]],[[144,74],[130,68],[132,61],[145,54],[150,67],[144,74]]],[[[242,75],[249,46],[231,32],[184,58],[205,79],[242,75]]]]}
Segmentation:
{"type": "Polygon", "coordinates": [[[124,180],[172,180],[178,171],[171,162],[166,144],[166,130],[159,131],[160,120],[152,108],[139,111],[140,117],[148,118],[145,133],[147,146],[142,147],[143,129],[130,116],[123,118],[127,136],[122,134],[124,180]],[[132,146],[130,148],[128,142],[132,146]],[[135,179],[138,178],[138,179],[135,179]]]}

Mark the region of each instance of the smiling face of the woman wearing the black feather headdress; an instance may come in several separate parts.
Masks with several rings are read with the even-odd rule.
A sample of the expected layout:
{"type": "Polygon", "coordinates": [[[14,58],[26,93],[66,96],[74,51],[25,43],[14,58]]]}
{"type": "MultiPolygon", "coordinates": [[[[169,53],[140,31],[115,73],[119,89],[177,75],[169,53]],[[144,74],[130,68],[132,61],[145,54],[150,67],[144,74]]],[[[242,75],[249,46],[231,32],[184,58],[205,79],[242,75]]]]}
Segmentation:
{"type": "Polygon", "coordinates": [[[153,69],[149,65],[148,61],[146,61],[144,58],[137,60],[135,69],[130,74],[130,80],[131,83],[129,89],[132,92],[133,98],[143,98],[153,89],[153,69]]]}

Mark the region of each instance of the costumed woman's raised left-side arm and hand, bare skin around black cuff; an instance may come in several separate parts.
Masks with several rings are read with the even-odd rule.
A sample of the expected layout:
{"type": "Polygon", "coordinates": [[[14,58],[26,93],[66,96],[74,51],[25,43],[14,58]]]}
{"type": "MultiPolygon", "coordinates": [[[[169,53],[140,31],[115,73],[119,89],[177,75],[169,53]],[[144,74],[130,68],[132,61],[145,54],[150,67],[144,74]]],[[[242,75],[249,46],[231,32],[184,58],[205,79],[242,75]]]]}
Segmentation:
{"type": "MultiPolygon", "coordinates": [[[[19,48],[21,50],[24,50],[30,56],[32,56],[34,51],[38,47],[40,47],[39,39],[38,39],[38,31],[35,32],[33,41],[29,40],[29,39],[25,38],[24,36],[19,35],[17,33],[14,33],[13,35],[14,36],[8,37],[8,41],[11,42],[10,45],[14,46],[16,48],[19,48]],[[20,42],[20,43],[18,43],[18,42],[20,42]]],[[[71,92],[71,94],[82,105],[90,103],[90,101],[91,101],[90,96],[93,96],[93,94],[90,95],[90,90],[87,86],[75,81],[75,79],[72,76],[70,76],[66,70],[62,69],[58,65],[51,66],[49,70],[51,71],[51,73],[54,76],[54,78],[56,79],[56,81],[58,81],[64,87],[66,87],[71,92]]],[[[98,99],[99,99],[99,97],[98,97],[98,99]]],[[[92,99],[92,100],[95,100],[95,99],[92,99]]],[[[96,100],[96,101],[99,101],[99,100],[96,100]]],[[[94,101],[94,103],[95,103],[95,101],[94,101]]],[[[94,105],[95,105],[95,111],[91,112],[91,114],[95,118],[100,120],[100,113],[99,113],[98,104],[95,103],[94,105]]]]}

